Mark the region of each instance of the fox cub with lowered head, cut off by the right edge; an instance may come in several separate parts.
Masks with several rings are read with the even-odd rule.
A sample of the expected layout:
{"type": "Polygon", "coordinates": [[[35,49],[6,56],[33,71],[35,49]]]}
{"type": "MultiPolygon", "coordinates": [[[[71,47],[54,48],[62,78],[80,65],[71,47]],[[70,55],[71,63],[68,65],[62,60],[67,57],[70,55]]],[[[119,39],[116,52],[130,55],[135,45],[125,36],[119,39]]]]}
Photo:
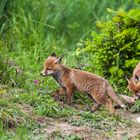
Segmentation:
{"type": "Polygon", "coordinates": [[[140,62],[133,70],[133,76],[128,81],[128,89],[132,92],[134,97],[140,97],[140,62]]]}

